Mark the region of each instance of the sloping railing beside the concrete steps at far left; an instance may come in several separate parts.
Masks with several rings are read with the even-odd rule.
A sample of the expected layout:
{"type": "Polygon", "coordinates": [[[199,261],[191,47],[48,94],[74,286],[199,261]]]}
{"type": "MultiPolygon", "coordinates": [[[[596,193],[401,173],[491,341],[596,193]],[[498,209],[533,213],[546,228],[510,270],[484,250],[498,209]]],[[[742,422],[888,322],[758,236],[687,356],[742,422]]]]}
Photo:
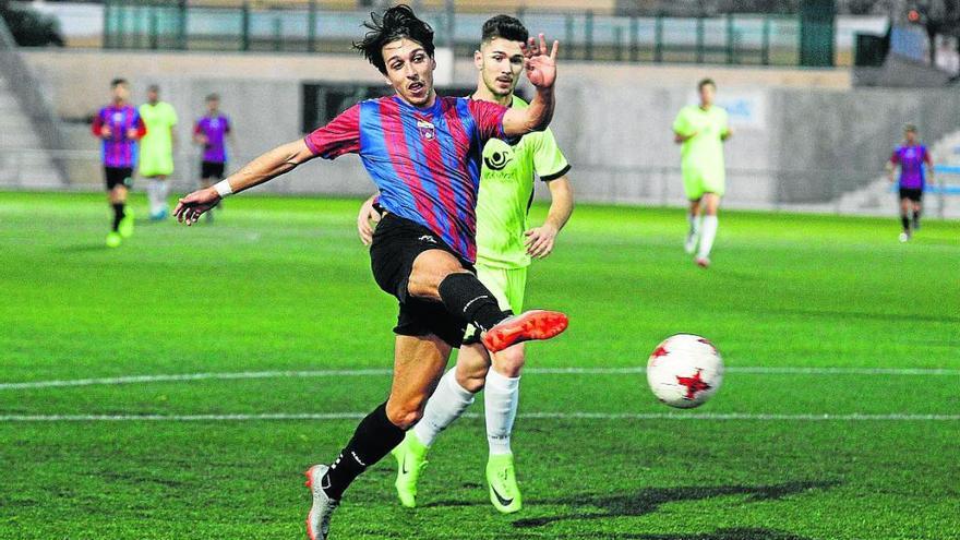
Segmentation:
{"type": "MultiPolygon", "coordinates": [[[[0,72],[2,72],[8,87],[16,97],[22,111],[31,120],[31,127],[27,129],[33,129],[36,132],[47,151],[62,148],[64,146],[63,135],[60,132],[60,120],[53,113],[53,105],[44,94],[39,82],[20,56],[16,41],[2,17],[0,17],[0,72]]],[[[65,165],[56,153],[51,153],[49,163],[52,163],[60,175],[59,180],[68,182],[65,165]]]]}

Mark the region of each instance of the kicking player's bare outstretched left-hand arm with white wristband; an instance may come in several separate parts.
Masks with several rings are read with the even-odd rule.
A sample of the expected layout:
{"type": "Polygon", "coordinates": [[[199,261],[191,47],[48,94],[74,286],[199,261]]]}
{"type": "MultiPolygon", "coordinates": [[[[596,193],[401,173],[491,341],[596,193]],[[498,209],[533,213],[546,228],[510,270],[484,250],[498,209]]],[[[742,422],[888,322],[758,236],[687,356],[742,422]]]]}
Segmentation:
{"type": "Polygon", "coordinates": [[[184,196],[177,203],[173,215],[177,220],[193,225],[205,212],[231,193],[239,193],[267,182],[280,175],[293,170],[298,165],[309,161],[314,154],[307,147],[302,139],[287,143],[267,152],[226,180],[184,196]]]}

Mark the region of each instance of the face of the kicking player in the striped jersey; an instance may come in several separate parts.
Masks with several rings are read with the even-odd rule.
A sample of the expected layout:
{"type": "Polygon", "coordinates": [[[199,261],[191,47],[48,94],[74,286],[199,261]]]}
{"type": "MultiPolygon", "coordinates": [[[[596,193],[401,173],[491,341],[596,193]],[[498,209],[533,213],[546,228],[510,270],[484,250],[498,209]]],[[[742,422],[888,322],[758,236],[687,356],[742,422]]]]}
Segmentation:
{"type": "Polygon", "coordinates": [[[400,38],[383,46],[386,79],[397,95],[415,106],[433,100],[433,70],[436,62],[417,41],[400,38]]]}

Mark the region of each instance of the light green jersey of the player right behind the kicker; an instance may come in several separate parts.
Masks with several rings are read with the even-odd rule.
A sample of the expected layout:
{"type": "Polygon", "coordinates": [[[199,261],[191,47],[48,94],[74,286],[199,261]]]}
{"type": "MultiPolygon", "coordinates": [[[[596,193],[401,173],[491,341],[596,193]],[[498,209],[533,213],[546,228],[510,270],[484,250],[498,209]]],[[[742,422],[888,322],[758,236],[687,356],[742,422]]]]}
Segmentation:
{"type": "MultiPolygon", "coordinates": [[[[514,96],[511,106],[526,108],[527,103],[514,96]]],[[[477,264],[494,268],[530,264],[524,232],[533,202],[533,175],[549,181],[567,170],[569,164],[549,129],[524,135],[514,146],[499,139],[487,142],[477,196],[477,264]]]]}

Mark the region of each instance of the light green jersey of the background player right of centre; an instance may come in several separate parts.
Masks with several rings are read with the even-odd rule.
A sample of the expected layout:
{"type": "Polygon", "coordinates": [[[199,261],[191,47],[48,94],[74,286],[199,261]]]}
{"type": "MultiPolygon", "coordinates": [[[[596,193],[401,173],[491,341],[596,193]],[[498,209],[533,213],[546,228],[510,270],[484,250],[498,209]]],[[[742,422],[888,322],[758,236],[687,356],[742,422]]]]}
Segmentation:
{"type": "Polygon", "coordinates": [[[728,132],[727,111],[716,105],[704,110],[698,105],[688,105],[676,115],[673,121],[674,133],[688,135],[681,146],[681,168],[684,179],[688,177],[710,178],[722,182],[723,134],[728,132]]]}

